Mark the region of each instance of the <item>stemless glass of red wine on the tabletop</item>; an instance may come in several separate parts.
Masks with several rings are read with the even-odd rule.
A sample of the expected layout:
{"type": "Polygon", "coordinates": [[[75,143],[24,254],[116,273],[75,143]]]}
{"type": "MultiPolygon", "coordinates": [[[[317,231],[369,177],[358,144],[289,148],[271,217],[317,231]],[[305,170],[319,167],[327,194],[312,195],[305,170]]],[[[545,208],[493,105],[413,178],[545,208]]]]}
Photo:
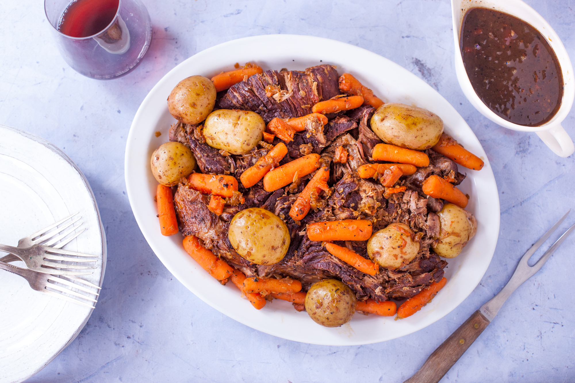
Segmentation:
{"type": "Polygon", "coordinates": [[[144,57],[152,39],[150,14],[140,0],[119,0],[115,16],[113,9],[109,14],[112,21],[101,30],[90,32],[93,33],[90,36],[72,37],[62,32],[68,13],[74,11],[79,25],[83,25],[82,18],[93,18],[90,13],[101,12],[102,3],[102,0],[44,1],[46,17],[64,60],[75,71],[97,79],[113,78],[131,70],[144,57]]]}

